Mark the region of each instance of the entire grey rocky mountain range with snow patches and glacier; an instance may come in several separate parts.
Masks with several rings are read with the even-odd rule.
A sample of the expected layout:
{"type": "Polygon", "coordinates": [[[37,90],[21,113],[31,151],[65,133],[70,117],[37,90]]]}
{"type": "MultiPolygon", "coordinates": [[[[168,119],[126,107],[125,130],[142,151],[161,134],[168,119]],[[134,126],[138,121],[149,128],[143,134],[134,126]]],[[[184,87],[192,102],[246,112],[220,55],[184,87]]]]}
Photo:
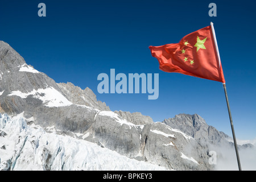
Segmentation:
{"type": "Polygon", "coordinates": [[[111,111],[89,88],[56,84],[2,41],[0,113],[0,169],[212,170],[212,146],[232,146],[197,114],[153,122],[111,111]]]}

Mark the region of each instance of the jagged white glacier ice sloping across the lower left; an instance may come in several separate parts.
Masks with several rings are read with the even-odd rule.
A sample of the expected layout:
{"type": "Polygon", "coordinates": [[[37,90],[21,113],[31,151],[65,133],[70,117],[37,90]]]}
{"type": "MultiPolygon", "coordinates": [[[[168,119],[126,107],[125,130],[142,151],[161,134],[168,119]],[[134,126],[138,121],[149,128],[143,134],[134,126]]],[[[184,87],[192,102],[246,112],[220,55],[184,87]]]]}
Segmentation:
{"type": "Polygon", "coordinates": [[[0,114],[0,170],[166,170],[56,131],[28,125],[23,113],[0,114]]]}

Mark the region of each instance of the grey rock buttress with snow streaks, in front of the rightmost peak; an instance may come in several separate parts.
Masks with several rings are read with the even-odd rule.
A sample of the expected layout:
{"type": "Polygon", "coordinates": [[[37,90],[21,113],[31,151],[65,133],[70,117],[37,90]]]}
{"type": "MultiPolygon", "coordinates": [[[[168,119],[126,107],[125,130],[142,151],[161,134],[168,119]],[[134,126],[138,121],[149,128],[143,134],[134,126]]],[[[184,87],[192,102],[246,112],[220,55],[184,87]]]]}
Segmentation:
{"type": "Polygon", "coordinates": [[[207,162],[205,151],[193,138],[185,138],[183,134],[171,127],[157,122],[143,128],[143,156],[159,166],[176,170],[212,170],[207,162]],[[165,135],[167,134],[167,135],[165,135]],[[193,158],[184,159],[181,156],[193,158]]]}

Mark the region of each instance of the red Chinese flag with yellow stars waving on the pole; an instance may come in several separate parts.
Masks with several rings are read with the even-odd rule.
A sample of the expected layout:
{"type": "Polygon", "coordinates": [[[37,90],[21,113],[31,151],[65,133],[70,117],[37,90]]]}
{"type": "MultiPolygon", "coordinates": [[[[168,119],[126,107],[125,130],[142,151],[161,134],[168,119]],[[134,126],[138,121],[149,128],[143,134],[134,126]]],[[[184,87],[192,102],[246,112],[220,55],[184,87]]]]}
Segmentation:
{"type": "Polygon", "coordinates": [[[179,43],[149,48],[164,72],[182,73],[225,83],[211,26],[184,36],[179,43]]]}

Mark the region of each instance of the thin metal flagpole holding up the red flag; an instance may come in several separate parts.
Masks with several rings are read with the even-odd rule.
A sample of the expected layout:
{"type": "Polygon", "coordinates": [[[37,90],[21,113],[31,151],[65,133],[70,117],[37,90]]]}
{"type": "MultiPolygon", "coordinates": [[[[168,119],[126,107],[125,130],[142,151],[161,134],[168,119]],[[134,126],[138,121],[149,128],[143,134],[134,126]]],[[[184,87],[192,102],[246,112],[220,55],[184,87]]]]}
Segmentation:
{"type": "MultiPolygon", "coordinates": [[[[217,44],[217,39],[216,39],[216,35],[215,35],[215,31],[214,31],[214,27],[213,27],[212,22],[210,22],[210,26],[212,27],[212,34],[213,34],[214,44],[215,44],[215,47],[216,47],[216,52],[217,52],[217,57],[218,57],[218,64],[221,65],[220,64],[220,53],[218,52],[218,44],[217,44]]],[[[236,155],[237,155],[238,169],[240,171],[242,171],[241,164],[240,164],[240,158],[239,158],[239,154],[238,154],[236,135],[234,133],[233,119],[232,119],[230,106],[229,106],[228,93],[226,92],[226,84],[225,83],[222,83],[222,84],[223,84],[223,88],[224,88],[224,92],[225,92],[225,96],[226,96],[226,105],[228,106],[228,111],[229,111],[229,120],[230,120],[231,129],[232,129],[234,147],[235,147],[236,155]]]]}

